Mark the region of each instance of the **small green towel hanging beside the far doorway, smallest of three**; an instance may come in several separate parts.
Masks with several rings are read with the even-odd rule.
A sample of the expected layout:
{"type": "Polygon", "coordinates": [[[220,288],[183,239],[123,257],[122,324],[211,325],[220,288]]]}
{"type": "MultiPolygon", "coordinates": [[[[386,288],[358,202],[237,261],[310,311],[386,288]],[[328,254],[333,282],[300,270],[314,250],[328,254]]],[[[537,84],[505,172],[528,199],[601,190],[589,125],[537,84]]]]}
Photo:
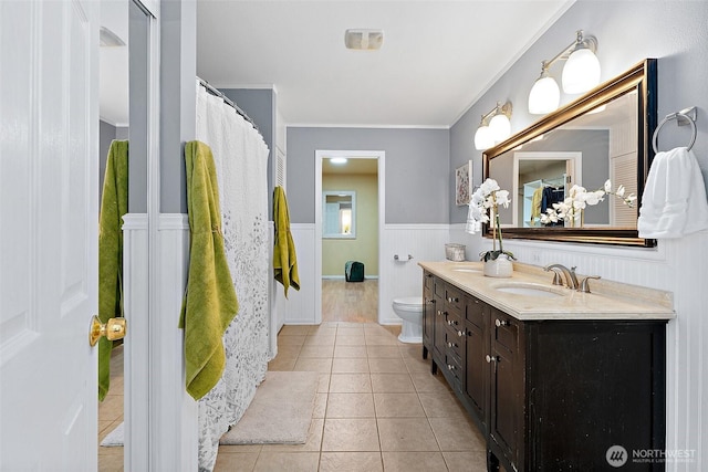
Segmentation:
{"type": "Polygon", "coordinates": [[[298,275],[298,255],[295,243],[290,232],[290,212],[288,200],[282,187],[273,190],[273,220],[275,221],[275,249],[273,251],[273,268],[275,280],[283,284],[285,298],[288,289],[300,290],[300,276],[298,275]]]}

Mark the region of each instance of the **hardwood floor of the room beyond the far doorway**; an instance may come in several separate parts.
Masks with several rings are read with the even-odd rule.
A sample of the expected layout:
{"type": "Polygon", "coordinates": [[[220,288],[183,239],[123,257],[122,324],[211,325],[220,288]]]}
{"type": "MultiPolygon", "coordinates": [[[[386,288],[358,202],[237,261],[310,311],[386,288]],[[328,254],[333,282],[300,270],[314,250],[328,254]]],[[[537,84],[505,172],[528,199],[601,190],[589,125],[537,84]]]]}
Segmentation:
{"type": "Polygon", "coordinates": [[[322,322],[378,322],[378,280],[322,280],[322,322]]]}

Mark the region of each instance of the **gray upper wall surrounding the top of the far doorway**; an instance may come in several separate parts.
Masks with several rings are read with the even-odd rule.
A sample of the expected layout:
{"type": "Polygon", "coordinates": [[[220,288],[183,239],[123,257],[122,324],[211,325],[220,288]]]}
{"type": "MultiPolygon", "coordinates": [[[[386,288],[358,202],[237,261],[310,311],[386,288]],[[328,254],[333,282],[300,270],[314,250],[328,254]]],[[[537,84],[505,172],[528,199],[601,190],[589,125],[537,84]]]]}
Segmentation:
{"type": "Polygon", "coordinates": [[[314,223],[316,150],[383,150],[386,223],[448,223],[449,130],[288,128],[288,208],[293,223],[314,223]]]}

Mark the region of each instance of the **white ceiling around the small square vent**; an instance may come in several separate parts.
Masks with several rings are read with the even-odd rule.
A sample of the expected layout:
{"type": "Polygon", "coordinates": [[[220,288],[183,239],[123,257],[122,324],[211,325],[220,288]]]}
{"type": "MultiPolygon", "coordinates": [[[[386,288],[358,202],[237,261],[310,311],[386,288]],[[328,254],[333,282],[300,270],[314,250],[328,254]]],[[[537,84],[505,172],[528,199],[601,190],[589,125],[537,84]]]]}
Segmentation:
{"type": "MultiPolygon", "coordinates": [[[[197,0],[197,74],[274,86],[289,125],[448,127],[573,1],[197,0]],[[382,49],[345,49],[353,28],[382,29],[382,49]]],[[[102,99],[114,124],[118,93],[102,99]]]]}

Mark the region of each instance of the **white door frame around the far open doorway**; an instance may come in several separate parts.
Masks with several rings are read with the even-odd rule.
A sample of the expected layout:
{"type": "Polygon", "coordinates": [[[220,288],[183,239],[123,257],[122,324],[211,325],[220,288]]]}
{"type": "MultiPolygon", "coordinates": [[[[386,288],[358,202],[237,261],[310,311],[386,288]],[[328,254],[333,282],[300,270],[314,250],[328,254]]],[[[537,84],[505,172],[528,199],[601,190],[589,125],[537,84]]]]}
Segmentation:
{"type": "MultiPolygon", "coordinates": [[[[347,159],[376,159],[378,178],[378,302],[381,302],[381,268],[382,242],[384,240],[384,223],[386,221],[386,151],[385,150],[331,150],[314,151],[314,323],[322,323],[322,160],[330,157],[345,157],[347,159]]],[[[382,319],[381,303],[378,306],[378,323],[382,319]]]]}

